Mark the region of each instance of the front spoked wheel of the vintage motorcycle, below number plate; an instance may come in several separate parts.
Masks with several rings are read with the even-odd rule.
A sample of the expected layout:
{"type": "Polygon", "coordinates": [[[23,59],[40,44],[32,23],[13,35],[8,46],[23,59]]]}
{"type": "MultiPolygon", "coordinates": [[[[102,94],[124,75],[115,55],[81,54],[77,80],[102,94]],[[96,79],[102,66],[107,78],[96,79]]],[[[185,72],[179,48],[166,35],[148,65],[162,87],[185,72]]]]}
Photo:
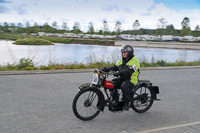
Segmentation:
{"type": "Polygon", "coordinates": [[[72,108],[74,115],[84,121],[94,119],[100,113],[100,95],[98,90],[80,91],[74,98],[72,108]]]}

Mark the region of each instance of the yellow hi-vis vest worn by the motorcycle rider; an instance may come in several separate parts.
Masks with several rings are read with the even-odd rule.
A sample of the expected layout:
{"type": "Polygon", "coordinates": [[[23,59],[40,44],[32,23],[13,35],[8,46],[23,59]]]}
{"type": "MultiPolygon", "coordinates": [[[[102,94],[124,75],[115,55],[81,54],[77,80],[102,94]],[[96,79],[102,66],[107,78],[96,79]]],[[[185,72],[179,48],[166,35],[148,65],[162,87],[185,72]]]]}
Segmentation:
{"type": "MultiPolygon", "coordinates": [[[[122,59],[119,60],[116,63],[117,67],[120,67],[120,65],[122,65],[122,59]]],[[[139,68],[140,68],[140,63],[138,61],[138,59],[134,56],[131,60],[129,60],[126,63],[127,66],[129,67],[133,67],[133,69],[135,70],[135,72],[133,72],[133,74],[131,75],[131,82],[136,85],[138,83],[138,76],[139,76],[139,68]]]]}

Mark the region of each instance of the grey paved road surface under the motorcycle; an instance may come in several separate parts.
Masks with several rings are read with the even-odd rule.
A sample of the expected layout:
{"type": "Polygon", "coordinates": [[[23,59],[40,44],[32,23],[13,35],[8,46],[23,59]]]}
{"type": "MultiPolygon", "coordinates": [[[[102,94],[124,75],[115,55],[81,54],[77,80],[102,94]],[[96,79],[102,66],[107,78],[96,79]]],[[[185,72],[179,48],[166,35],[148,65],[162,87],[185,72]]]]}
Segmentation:
{"type": "Polygon", "coordinates": [[[92,121],[72,112],[77,88],[92,72],[0,75],[1,133],[199,133],[200,69],[142,70],[140,79],[160,87],[143,114],[107,109],[92,121]]]}

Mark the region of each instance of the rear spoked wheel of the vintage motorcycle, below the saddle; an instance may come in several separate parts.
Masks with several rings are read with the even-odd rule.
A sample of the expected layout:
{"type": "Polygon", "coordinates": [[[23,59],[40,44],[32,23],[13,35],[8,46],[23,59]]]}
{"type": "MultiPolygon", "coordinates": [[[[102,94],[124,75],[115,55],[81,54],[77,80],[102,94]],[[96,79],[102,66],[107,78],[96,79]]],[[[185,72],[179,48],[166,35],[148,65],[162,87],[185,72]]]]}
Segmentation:
{"type": "Polygon", "coordinates": [[[152,92],[148,87],[141,86],[137,88],[133,94],[133,98],[136,99],[131,103],[132,109],[137,113],[144,113],[148,111],[152,104],[152,92]]]}

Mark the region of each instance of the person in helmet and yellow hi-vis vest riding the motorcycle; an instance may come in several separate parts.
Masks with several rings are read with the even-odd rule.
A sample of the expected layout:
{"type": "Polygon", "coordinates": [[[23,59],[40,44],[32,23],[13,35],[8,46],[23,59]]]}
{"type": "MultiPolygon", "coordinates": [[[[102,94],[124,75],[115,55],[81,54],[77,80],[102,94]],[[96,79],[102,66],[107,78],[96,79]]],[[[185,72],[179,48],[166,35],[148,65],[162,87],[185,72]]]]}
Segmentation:
{"type": "Polygon", "coordinates": [[[102,71],[118,71],[111,82],[115,89],[121,88],[122,100],[124,103],[123,110],[129,109],[129,99],[131,99],[131,89],[138,83],[140,63],[134,56],[134,49],[130,45],[123,45],[121,48],[122,58],[112,67],[105,67],[102,71]]]}

